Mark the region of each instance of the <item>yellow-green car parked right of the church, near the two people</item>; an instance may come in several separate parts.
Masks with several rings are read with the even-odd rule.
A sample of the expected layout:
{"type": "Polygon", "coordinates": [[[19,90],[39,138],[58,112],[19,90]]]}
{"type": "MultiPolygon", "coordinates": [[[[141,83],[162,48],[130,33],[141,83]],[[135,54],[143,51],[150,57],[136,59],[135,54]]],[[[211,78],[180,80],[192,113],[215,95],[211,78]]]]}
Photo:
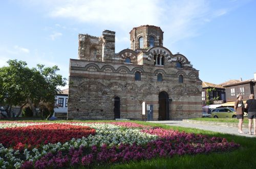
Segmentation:
{"type": "Polygon", "coordinates": [[[236,118],[237,114],[233,107],[215,108],[211,111],[211,117],[214,118],[236,118]]]}

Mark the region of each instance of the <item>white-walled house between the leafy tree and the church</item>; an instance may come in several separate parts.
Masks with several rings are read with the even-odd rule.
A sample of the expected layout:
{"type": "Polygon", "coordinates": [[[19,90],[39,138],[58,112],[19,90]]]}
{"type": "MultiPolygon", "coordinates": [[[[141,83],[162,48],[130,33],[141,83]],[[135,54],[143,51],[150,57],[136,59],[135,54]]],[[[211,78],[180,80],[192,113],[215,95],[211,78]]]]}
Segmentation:
{"type": "Polygon", "coordinates": [[[54,117],[58,119],[67,119],[68,114],[69,89],[61,90],[55,96],[54,117]]]}

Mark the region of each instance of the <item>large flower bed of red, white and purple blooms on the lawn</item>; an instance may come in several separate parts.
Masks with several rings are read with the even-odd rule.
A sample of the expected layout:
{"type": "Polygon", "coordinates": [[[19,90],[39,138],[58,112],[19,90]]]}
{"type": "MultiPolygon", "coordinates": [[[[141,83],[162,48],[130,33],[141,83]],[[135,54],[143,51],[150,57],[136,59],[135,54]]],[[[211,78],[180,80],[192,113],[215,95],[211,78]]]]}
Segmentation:
{"type": "Polygon", "coordinates": [[[14,123],[13,126],[0,123],[0,132],[4,133],[0,134],[0,166],[4,168],[91,167],[175,154],[224,152],[239,147],[225,138],[131,122],[14,123]],[[22,137],[18,139],[15,134],[22,137]]]}

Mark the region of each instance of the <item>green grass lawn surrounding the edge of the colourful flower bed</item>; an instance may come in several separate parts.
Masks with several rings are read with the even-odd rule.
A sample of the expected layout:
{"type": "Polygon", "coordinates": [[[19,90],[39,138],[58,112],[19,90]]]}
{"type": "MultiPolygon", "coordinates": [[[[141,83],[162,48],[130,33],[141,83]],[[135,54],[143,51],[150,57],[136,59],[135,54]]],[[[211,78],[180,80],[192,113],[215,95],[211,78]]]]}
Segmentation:
{"type": "MultiPolygon", "coordinates": [[[[222,120],[213,118],[199,118],[202,120],[222,120]]],[[[194,119],[198,120],[198,119],[194,119]]],[[[224,119],[223,119],[224,120],[224,119]]],[[[238,122],[236,119],[225,119],[225,122],[238,122]],[[233,120],[233,121],[232,121],[233,120]]],[[[28,122],[28,121],[26,121],[28,122]]],[[[37,121],[39,122],[39,121],[37,121]]],[[[49,121],[40,121],[49,122],[49,121]]],[[[53,121],[51,121],[53,122],[53,121]]],[[[66,122],[66,121],[61,121],[66,122]]],[[[67,121],[70,122],[70,121],[67,121]]],[[[81,122],[113,122],[113,121],[81,121],[81,122]]],[[[115,121],[116,122],[116,121],[115,121]]],[[[122,122],[122,121],[120,121],[122,122]]],[[[127,122],[127,121],[124,121],[127,122]]],[[[193,128],[183,128],[176,126],[168,126],[165,124],[148,123],[142,121],[129,121],[138,124],[161,127],[164,129],[174,129],[185,131],[188,133],[205,134],[208,136],[224,137],[228,141],[240,144],[240,148],[231,152],[198,154],[198,155],[182,155],[172,158],[155,158],[151,160],[131,161],[124,164],[115,164],[107,166],[96,166],[94,168],[255,168],[256,160],[256,138],[237,136],[231,134],[223,134],[218,132],[199,130],[193,128]]]]}

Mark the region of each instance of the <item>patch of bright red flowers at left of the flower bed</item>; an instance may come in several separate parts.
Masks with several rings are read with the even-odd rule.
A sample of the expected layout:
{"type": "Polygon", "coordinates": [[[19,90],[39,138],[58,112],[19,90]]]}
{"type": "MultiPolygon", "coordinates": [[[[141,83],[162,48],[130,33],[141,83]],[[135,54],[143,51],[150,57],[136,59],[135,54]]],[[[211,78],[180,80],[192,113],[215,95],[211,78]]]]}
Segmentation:
{"type": "Polygon", "coordinates": [[[95,129],[70,124],[43,124],[0,129],[0,143],[16,150],[39,147],[41,144],[65,143],[72,138],[95,134],[95,129]]]}

